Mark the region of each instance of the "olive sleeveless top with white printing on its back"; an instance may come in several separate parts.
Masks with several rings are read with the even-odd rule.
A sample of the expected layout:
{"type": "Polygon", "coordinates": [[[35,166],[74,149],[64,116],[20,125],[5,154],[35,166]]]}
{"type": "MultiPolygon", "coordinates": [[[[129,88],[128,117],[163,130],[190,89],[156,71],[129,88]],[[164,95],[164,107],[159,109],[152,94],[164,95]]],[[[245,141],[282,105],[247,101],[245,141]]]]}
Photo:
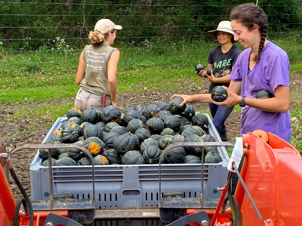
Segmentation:
{"type": "Polygon", "coordinates": [[[110,56],[115,50],[117,49],[108,45],[84,47],[85,76],[80,83],[82,89],[99,96],[110,96],[107,68],[110,56]]]}

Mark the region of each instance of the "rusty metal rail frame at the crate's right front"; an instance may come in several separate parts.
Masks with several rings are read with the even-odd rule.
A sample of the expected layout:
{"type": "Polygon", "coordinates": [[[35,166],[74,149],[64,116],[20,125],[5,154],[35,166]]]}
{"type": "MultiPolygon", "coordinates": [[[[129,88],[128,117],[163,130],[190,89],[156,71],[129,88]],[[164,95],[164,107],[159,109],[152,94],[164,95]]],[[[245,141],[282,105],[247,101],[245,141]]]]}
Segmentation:
{"type": "Polygon", "coordinates": [[[162,152],[162,155],[159,159],[159,197],[162,201],[163,195],[161,191],[161,162],[163,159],[163,156],[166,152],[169,152],[172,148],[182,146],[182,147],[201,147],[201,199],[200,199],[200,207],[204,208],[204,197],[203,197],[203,189],[204,189],[204,146],[230,146],[234,147],[233,143],[230,142],[177,142],[168,145],[162,152]]]}

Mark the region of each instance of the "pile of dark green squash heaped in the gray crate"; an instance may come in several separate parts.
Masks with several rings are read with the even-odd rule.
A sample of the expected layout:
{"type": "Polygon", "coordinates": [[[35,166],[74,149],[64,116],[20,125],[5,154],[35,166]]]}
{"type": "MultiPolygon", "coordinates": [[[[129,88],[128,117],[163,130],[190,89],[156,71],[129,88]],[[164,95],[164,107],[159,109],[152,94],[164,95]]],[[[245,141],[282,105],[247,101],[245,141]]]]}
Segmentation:
{"type": "MultiPolygon", "coordinates": [[[[196,114],[192,105],[180,106],[182,98],[167,102],[137,105],[122,112],[110,105],[101,109],[77,108],[67,111],[68,121],[53,133],[48,143],[79,143],[94,156],[95,165],[201,163],[201,147],[175,147],[176,142],[215,142],[208,132],[206,115],[196,114]]],[[[42,165],[48,166],[47,149],[40,149],[42,165]]],[[[91,165],[77,148],[51,149],[52,165],[91,165]]],[[[222,161],[217,147],[204,147],[204,163],[222,161]]]]}

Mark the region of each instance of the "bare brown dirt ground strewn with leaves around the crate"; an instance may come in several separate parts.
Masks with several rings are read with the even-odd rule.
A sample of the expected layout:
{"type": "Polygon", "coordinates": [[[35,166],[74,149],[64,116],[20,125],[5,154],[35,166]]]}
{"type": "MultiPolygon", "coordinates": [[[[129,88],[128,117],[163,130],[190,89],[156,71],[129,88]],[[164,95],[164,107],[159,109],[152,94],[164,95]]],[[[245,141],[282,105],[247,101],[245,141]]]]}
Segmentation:
{"type": "MultiPolygon", "coordinates": [[[[301,102],[301,75],[302,74],[291,74],[290,85],[291,85],[291,107],[290,111],[296,109],[301,110],[299,107],[299,102],[301,102]],[[300,100],[299,100],[300,99],[300,100]]],[[[175,83],[179,84],[179,90],[173,93],[183,93],[183,94],[196,94],[207,92],[209,83],[205,83],[204,86],[198,86],[193,80],[189,78],[180,78],[176,80],[175,83]]],[[[158,90],[149,91],[146,90],[143,94],[136,93],[119,93],[118,94],[118,104],[122,111],[127,107],[135,106],[137,104],[148,105],[150,103],[159,103],[161,101],[168,102],[168,99],[173,94],[172,92],[162,92],[158,90]]],[[[50,103],[70,103],[74,102],[74,99],[53,99],[47,101],[50,103]]],[[[39,119],[25,117],[18,120],[10,120],[18,108],[21,106],[28,109],[32,108],[34,105],[42,105],[45,102],[22,102],[14,104],[5,104],[0,108],[0,137],[2,137],[2,143],[6,143],[7,152],[11,152],[15,147],[24,143],[41,143],[50,129],[53,121],[47,120],[47,117],[41,117],[39,119]],[[35,131],[31,131],[30,124],[31,121],[37,121],[35,131]],[[20,132],[27,131],[27,132],[20,132]]],[[[193,104],[196,109],[208,109],[207,104],[193,104]]],[[[62,115],[63,116],[63,115],[62,115]]],[[[230,117],[226,121],[227,135],[230,141],[233,141],[235,136],[240,133],[240,112],[232,112],[230,117]]],[[[27,193],[30,195],[30,177],[29,177],[29,167],[32,159],[34,158],[36,151],[26,151],[19,152],[12,156],[12,162],[16,174],[24,186],[27,193]]],[[[17,186],[11,179],[11,188],[14,192],[15,197],[20,196],[17,186]]]]}

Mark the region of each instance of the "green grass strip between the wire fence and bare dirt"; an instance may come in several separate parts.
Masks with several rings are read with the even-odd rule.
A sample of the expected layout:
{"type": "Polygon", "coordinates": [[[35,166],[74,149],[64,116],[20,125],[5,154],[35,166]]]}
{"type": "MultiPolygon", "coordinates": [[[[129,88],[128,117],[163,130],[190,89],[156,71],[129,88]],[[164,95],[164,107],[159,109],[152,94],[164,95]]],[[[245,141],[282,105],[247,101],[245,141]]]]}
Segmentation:
{"type": "MultiPolygon", "coordinates": [[[[302,72],[302,43],[296,37],[291,39],[272,40],[284,49],[290,58],[291,73],[302,72]]],[[[194,66],[198,63],[207,65],[210,49],[216,44],[204,41],[162,43],[161,40],[147,40],[139,45],[116,43],[121,57],[118,68],[119,93],[143,93],[154,88],[166,92],[185,93],[179,90],[179,78],[194,78],[197,85],[202,80],[194,75],[194,66]]],[[[0,47],[1,48],[1,47],[0,47]]],[[[50,51],[42,48],[39,51],[14,52],[0,49],[0,104],[20,102],[39,102],[51,99],[73,98],[79,86],[75,83],[75,74],[79,50],[71,48],[50,51]]],[[[72,106],[45,103],[33,109],[20,108],[14,117],[24,115],[45,115],[57,118],[72,106]]],[[[293,118],[293,141],[302,150],[302,111],[291,112],[293,118]],[[294,120],[300,119],[300,120],[294,120]]],[[[12,120],[12,119],[10,119],[12,120]]],[[[34,129],[34,128],[33,128],[34,129]]]]}

